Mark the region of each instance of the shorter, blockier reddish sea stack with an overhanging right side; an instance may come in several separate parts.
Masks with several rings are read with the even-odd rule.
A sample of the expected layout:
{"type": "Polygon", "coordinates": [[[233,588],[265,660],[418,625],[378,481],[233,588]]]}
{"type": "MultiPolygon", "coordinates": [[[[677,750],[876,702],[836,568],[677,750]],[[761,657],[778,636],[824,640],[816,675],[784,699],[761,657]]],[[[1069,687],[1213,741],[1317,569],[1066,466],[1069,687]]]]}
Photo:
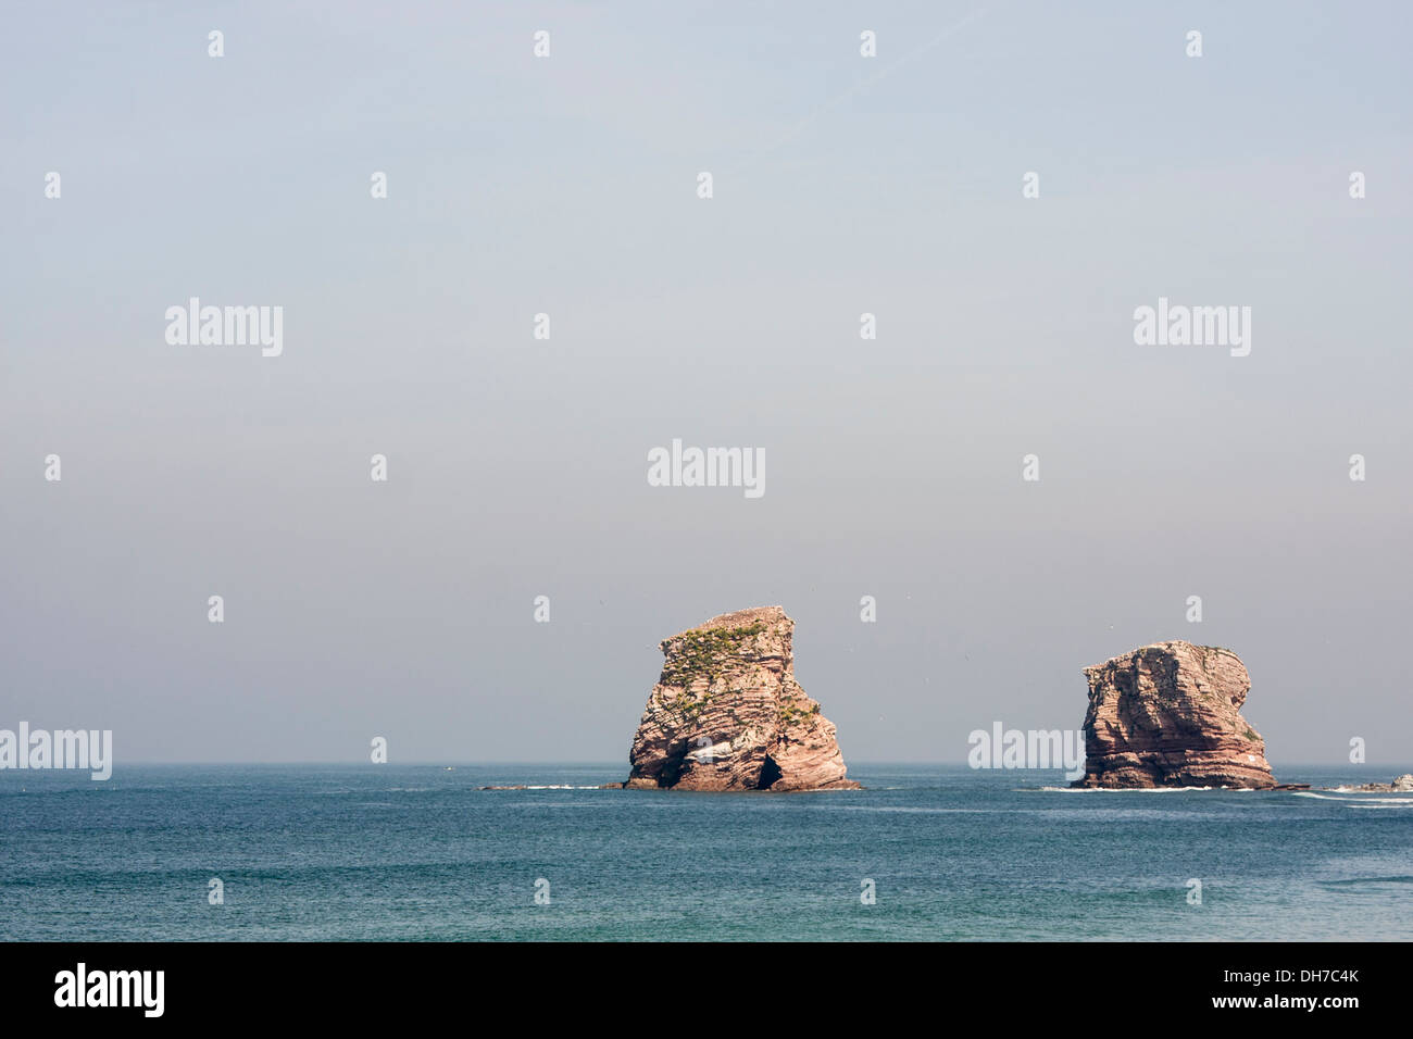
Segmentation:
{"type": "Polygon", "coordinates": [[[1084,779],[1074,786],[1276,786],[1229,649],[1160,642],[1084,669],[1084,779]]]}

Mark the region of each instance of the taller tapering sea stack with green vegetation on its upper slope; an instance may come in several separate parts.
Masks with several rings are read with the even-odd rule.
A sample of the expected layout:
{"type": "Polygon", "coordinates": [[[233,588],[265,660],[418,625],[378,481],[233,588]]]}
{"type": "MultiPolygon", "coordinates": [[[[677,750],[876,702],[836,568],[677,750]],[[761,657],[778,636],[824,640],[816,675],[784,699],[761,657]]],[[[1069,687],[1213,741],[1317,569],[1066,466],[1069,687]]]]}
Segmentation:
{"type": "Polygon", "coordinates": [[[780,606],[715,616],[661,643],[626,787],[846,790],[834,725],[794,679],[780,606]]]}

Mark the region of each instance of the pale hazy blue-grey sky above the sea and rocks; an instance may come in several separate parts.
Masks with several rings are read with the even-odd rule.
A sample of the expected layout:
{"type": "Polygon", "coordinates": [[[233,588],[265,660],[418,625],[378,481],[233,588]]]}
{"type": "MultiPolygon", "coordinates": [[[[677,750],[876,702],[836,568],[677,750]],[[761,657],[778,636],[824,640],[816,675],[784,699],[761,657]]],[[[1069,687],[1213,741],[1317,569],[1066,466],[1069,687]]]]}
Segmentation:
{"type": "Polygon", "coordinates": [[[1190,639],[1277,775],[1407,770],[1413,8],[1167,7],[11,6],[0,728],[626,770],[657,642],[780,604],[851,762],[1190,639]],[[168,345],[194,295],[283,355],[168,345]]]}

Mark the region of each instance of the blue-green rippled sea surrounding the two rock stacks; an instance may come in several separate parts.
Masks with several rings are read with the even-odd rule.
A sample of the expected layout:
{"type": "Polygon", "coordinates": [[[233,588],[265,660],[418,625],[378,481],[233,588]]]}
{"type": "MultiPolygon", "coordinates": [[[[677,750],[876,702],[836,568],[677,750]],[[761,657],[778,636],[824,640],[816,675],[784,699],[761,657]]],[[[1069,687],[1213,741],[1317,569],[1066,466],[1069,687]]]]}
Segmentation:
{"type": "Polygon", "coordinates": [[[1072,793],[897,765],[851,766],[852,793],[476,790],[623,775],[3,772],[0,939],[1413,937],[1410,794],[1072,793]]]}

